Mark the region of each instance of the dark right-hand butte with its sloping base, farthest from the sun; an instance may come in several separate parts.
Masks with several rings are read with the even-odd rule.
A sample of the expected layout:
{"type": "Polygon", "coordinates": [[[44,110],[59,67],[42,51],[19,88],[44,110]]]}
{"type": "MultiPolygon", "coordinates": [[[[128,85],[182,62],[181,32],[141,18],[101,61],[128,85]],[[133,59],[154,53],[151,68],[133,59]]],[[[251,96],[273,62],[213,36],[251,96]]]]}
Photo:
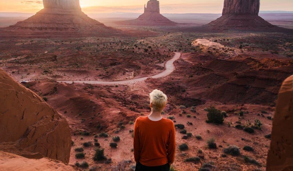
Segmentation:
{"type": "Polygon", "coordinates": [[[222,17],[207,24],[213,29],[258,29],[276,26],[258,16],[260,0],[224,0],[222,17]]]}

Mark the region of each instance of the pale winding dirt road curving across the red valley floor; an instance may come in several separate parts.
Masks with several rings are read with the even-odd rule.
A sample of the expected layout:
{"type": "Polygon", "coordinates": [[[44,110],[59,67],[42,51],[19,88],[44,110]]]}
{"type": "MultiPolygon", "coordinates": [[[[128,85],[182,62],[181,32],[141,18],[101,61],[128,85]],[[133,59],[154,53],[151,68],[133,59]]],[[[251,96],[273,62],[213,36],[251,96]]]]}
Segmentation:
{"type": "Polygon", "coordinates": [[[159,74],[153,75],[153,76],[147,76],[142,78],[135,78],[132,80],[123,80],[123,81],[57,81],[59,83],[88,83],[88,84],[105,84],[105,85],[113,85],[113,84],[131,84],[136,83],[139,81],[144,81],[147,78],[161,78],[168,76],[175,70],[174,62],[180,58],[181,53],[175,52],[174,57],[171,60],[168,60],[165,63],[165,70],[159,74]]]}

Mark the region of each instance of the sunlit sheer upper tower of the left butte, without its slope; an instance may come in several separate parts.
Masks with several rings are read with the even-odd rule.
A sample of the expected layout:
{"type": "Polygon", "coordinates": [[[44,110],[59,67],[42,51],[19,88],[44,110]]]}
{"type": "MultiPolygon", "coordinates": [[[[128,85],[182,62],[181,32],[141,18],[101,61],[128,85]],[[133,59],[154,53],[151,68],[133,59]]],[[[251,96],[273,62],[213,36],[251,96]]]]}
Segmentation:
{"type": "Polygon", "coordinates": [[[45,9],[81,10],[79,0],[43,0],[43,4],[45,9]]]}

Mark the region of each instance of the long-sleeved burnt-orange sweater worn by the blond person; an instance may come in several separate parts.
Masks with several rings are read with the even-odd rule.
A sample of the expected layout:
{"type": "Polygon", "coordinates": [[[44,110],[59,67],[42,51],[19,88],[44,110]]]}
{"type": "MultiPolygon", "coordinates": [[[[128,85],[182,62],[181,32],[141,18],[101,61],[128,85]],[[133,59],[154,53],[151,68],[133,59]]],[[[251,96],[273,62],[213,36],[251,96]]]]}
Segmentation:
{"type": "Polygon", "coordinates": [[[161,166],[174,161],[175,127],[173,121],[162,118],[151,121],[139,117],[133,132],[134,159],[145,166],[161,166]]]}

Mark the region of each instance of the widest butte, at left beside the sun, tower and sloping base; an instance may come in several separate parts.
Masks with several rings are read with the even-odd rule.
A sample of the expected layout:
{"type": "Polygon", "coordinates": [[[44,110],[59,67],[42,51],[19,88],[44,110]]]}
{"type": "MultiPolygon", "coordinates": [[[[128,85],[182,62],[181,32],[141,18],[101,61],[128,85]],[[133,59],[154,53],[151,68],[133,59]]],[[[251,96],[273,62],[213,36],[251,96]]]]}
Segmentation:
{"type": "Polygon", "coordinates": [[[43,5],[32,17],[4,28],[0,36],[108,36],[120,32],[89,18],[81,11],[79,0],[43,0],[43,5]]]}

